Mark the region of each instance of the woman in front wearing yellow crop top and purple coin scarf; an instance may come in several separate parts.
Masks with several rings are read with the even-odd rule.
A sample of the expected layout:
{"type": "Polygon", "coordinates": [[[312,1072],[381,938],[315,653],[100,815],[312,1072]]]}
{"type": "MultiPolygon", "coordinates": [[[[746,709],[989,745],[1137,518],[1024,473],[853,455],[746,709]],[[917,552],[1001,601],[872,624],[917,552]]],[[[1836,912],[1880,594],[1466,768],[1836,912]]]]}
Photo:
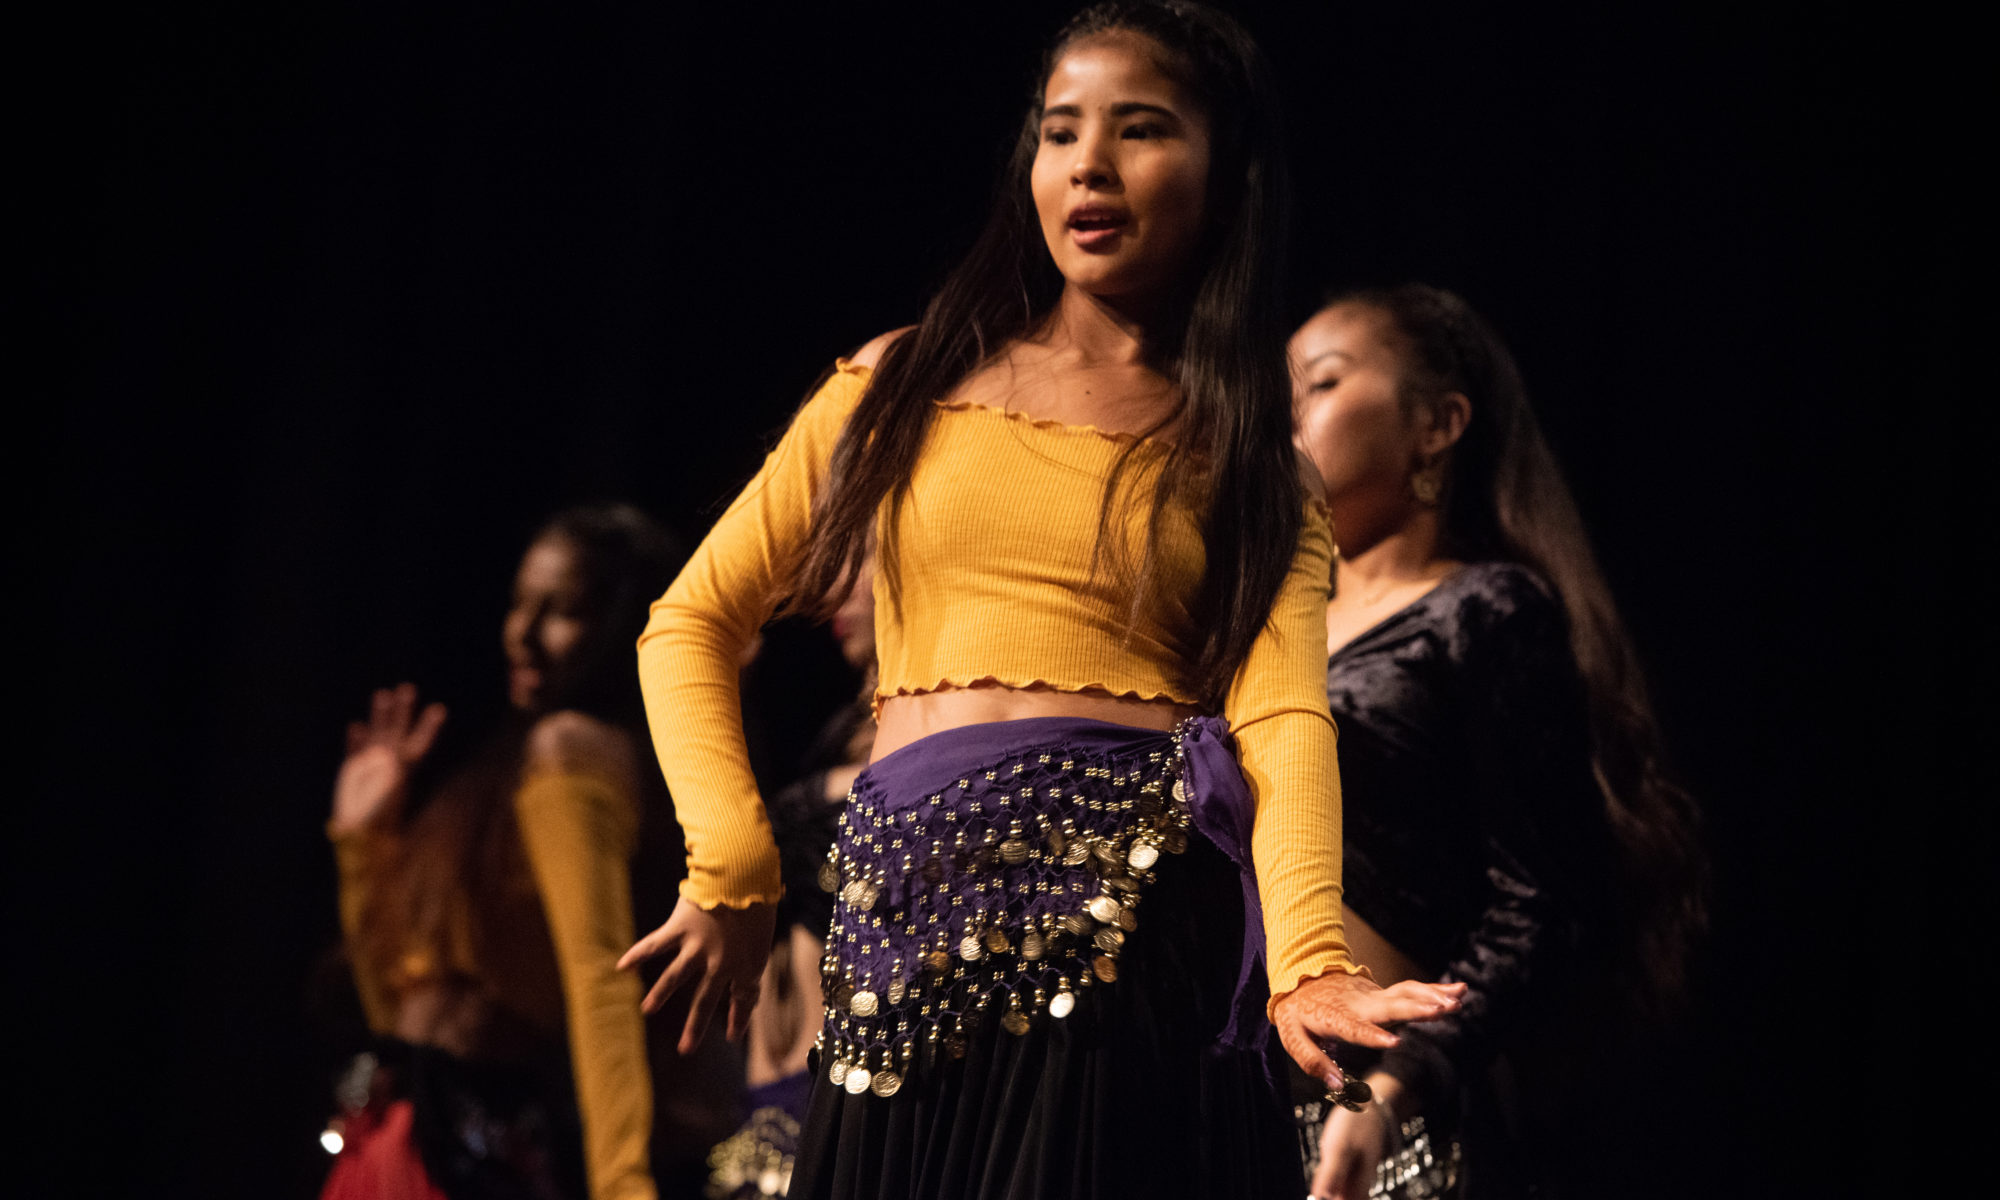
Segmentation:
{"type": "Polygon", "coordinates": [[[794,1196],[1292,1198],[1266,1014],[1338,1088],[1322,1040],[1456,1006],[1378,988],[1340,932],[1282,192],[1234,22],[1086,10],[924,320],[838,364],[654,606],[690,878],[628,962],[670,958],[648,1004],[688,988],[692,1044],[716,1008],[744,1026],[778,898],[734,656],[878,544],[880,726],[822,876],[794,1196]]]}

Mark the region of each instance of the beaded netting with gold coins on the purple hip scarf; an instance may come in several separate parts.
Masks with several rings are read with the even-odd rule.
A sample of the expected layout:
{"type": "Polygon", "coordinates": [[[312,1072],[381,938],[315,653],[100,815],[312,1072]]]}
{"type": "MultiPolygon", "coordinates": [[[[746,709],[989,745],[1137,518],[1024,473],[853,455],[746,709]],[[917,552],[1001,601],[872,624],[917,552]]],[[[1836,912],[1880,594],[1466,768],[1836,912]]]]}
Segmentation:
{"type": "Polygon", "coordinates": [[[1026,748],[916,796],[864,772],[820,868],[826,1078],[892,1096],[984,1022],[1020,1036],[1116,982],[1162,854],[1188,848],[1182,774],[1178,732],[1026,748]]]}

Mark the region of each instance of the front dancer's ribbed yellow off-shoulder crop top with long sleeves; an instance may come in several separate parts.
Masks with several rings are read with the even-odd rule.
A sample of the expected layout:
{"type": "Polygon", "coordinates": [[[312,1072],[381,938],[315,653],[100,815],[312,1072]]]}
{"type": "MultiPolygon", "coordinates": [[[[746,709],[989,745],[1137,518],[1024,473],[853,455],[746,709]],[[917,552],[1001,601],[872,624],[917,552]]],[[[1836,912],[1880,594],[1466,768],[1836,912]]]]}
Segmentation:
{"type": "MultiPolygon", "coordinates": [[[[640,682],[654,748],[688,840],[682,896],[704,908],[774,902],[778,850],[750,776],[736,680],[740,652],[770,618],[812,528],[834,442],[868,370],[838,364],[762,470],[652,606],[640,682]]],[[[1192,704],[1176,668],[1192,652],[1188,612],[1168,604],[1126,636],[1128,604],[1090,554],[1112,460],[1136,438],[940,404],[898,520],[902,606],[876,578],[878,702],[998,682],[1192,704]]],[[[1134,452],[1132,488],[1158,468],[1134,452]],[[1134,478],[1136,476],[1136,478],[1134,478]]],[[[1134,518],[1142,522],[1142,518],[1134,518]]],[[[1134,536],[1142,536],[1134,524],[1134,536]]],[[[1162,594],[1202,572],[1194,516],[1168,512],[1162,594]]],[[[1328,970],[1358,972],[1340,926],[1340,774],[1326,708],[1326,592],[1332,530],[1308,502],[1298,552],[1224,702],[1256,804],[1252,856],[1278,998],[1328,970]]]]}

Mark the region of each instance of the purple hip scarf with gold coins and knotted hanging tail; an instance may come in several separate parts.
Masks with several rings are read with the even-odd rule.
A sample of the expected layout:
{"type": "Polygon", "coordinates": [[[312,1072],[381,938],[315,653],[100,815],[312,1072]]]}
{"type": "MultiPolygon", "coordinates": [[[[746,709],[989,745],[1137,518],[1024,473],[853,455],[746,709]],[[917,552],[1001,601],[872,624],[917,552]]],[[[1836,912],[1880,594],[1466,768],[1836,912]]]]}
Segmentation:
{"type": "Polygon", "coordinates": [[[910,1070],[958,1058],[984,1024],[1066,1020],[1116,986],[1158,872],[1208,838],[1244,888],[1236,1002],[1218,1040],[1262,1048],[1264,916],[1250,792],[1218,718],[1172,732],[1080,718],[962,726],[864,770],[820,886],[834,892],[822,960],[820,1062],[852,1094],[892,1096],[910,1070]]]}

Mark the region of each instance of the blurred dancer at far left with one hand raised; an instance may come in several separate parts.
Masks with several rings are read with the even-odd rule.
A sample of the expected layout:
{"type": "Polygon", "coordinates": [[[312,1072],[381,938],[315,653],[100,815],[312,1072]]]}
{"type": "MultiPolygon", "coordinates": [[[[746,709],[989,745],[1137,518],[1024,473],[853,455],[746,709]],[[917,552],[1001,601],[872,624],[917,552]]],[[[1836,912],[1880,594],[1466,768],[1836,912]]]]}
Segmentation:
{"type": "Polygon", "coordinates": [[[326,1196],[658,1194],[640,988],[614,964],[642,844],[664,834],[666,870],[678,850],[628,648],[680,558],[634,508],[558,514],[502,622],[510,714],[470,762],[424,786],[444,706],[410,684],[350,726],[328,834],[384,1042],[326,1196]]]}

